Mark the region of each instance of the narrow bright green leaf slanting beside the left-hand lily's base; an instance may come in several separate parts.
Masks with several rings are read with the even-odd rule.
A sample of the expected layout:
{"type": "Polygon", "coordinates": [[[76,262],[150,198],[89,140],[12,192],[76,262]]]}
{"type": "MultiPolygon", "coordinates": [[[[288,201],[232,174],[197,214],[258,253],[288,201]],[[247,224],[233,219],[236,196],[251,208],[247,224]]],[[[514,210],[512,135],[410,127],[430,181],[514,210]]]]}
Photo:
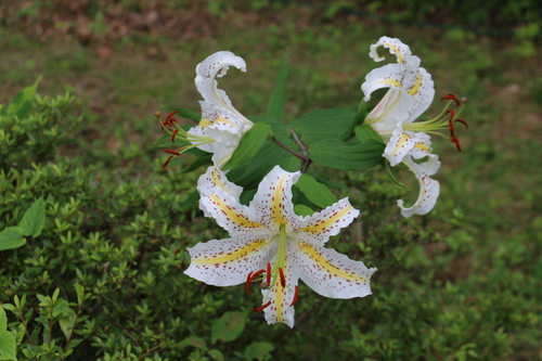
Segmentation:
{"type": "Polygon", "coordinates": [[[261,149],[266,142],[271,126],[264,123],[256,123],[250,130],[248,130],[232,154],[232,157],[222,167],[222,170],[230,170],[237,168],[253,158],[256,153],[261,149]]]}

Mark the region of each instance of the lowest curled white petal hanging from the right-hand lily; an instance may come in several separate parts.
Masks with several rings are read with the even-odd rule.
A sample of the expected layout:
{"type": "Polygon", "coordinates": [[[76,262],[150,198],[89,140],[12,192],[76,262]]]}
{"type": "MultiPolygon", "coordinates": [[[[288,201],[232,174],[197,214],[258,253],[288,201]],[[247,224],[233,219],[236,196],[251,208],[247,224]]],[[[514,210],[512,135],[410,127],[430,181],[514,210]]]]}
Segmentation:
{"type": "Polygon", "coordinates": [[[420,194],[416,202],[411,207],[404,207],[402,199],[397,201],[397,204],[401,208],[401,215],[405,218],[413,215],[426,215],[435,207],[440,192],[439,182],[429,178],[429,176],[435,175],[440,167],[438,156],[430,154],[427,162],[417,164],[409,155],[403,158],[402,163],[414,172],[418,180],[420,194]]]}

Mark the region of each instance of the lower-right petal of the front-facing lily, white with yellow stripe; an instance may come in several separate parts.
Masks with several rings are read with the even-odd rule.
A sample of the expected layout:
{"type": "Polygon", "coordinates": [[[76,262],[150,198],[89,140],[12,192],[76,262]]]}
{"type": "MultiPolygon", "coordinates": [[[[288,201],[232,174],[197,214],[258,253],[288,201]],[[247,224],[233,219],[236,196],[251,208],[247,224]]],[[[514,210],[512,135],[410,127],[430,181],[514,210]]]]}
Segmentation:
{"type": "Polygon", "coordinates": [[[376,271],[334,249],[295,242],[288,248],[295,273],[312,289],[331,298],[371,295],[370,279],[376,271]]]}

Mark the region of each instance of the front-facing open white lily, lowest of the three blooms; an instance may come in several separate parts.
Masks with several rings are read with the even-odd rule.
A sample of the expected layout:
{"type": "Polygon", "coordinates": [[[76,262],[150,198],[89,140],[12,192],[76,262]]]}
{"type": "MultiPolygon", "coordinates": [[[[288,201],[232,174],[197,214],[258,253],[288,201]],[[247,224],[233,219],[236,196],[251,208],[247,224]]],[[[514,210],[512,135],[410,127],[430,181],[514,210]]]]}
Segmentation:
{"type": "Polygon", "coordinates": [[[184,272],[216,286],[246,282],[248,294],[250,283],[261,280],[263,305],[253,311],[263,310],[269,324],[283,322],[291,327],[299,279],[325,297],[364,297],[371,294],[370,279],[376,271],[324,247],[360,214],[348,198],[309,217],[294,212],[292,185],[299,177],[299,171],[275,166],[249,206],[220,188],[202,196],[201,207],[231,237],[189,248],[192,260],[184,272]]]}

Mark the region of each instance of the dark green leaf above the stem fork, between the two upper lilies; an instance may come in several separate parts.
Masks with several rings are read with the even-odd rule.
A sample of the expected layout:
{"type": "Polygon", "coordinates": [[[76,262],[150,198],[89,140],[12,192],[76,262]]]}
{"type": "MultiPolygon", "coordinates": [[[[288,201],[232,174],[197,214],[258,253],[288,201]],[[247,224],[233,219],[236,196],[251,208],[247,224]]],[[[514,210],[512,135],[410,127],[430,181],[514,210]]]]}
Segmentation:
{"type": "Polygon", "coordinates": [[[344,138],[354,118],[356,113],[349,109],[320,109],[302,115],[288,128],[294,129],[301,142],[310,146],[315,142],[344,138]]]}

